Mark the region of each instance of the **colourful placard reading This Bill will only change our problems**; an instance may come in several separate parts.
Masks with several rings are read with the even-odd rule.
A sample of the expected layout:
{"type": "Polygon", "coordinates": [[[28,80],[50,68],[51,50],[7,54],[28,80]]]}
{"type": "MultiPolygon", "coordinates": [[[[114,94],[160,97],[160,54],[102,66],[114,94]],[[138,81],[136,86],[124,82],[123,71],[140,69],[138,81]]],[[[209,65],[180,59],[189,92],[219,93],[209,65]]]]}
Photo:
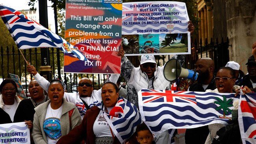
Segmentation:
{"type": "Polygon", "coordinates": [[[64,56],[64,72],[119,74],[122,1],[66,0],[65,40],[88,61],[64,56]]]}

